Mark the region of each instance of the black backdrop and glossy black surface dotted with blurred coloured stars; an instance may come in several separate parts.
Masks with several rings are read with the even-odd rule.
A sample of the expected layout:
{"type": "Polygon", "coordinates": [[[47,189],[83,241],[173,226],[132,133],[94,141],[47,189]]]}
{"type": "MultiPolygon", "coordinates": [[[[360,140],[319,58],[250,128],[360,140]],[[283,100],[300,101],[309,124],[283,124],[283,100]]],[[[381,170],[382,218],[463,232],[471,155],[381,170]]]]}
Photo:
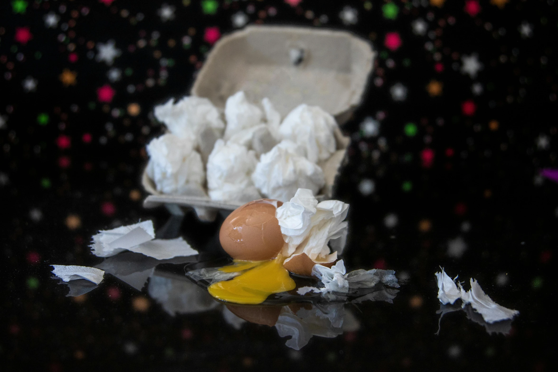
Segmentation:
{"type": "MultiPolygon", "coordinates": [[[[162,1],[0,2],[3,370],[552,369],[558,185],[538,172],[556,167],[553,0],[395,1],[384,8],[395,5],[395,19],[381,1],[165,3],[175,18],[163,22],[162,1]],[[345,7],[356,23],[343,23],[345,7]],[[45,27],[49,12],[60,17],[56,28],[45,27]],[[335,196],[351,205],[348,268],[395,269],[408,281],[393,305],[355,309],[359,331],[314,337],[300,352],[275,328],[235,331],[219,313],[171,317],[155,302],[138,311],[132,301],[146,294],[114,277],[79,302],[50,279],[49,264],[99,261],[87,247],[99,229],[140,218],[165,223],[166,210],[142,207],[145,144],[162,132],[153,105],[187,94],[211,47],[205,28],[232,32],[237,12],[249,23],[347,29],[379,54],[364,102],[342,128],[352,143],[335,196]],[[412,31],[417,18],[425,35],[412,31]],[[519,32],[524,22],[531,34],[519,32]],[[26,43],[16,40],[20,27],[32,35],[26,43]],[[401,37],[395,51],[384,46],[387,32],[401,37]],[[94,57],[109,39],[122,51],[112,66],[94,57]],[[461,57],[473,53],[483,64],[474,79],[461,73],[461,57]],[[121,70],[119,81],[109,81],[111,67],[121,70]],[[76,73],[75,85],[62,84],[64,69],[76,73]],[[23,88],[28,76],[35,91],[23,88]],[[442,90],[432,95],[427,86],[436,82],[442,90]],[[405,100],[393,100],[396,83],[407,88],[405,100]],[[110,103],[98,101],[105,84],[116,91],[110,103]],[[462,110],[468,100],[474,113],[462,110]],[[133,103],[139,115],[128,114],[133,103]],[[381,124],[378,136],[360,130],[366,117],[381,124]],[[425,149],[434,151],[432,163],[422,160],[425,149]],[[362,180],[373,180],[372,194],[359,191],[362,180]],[[392,228],[388,214],[397,216],[392,228]],[[458,237],[463,255],[448,255],[458,237]],[[455,312],[434,335],[439,265],[463,281],[477,278],[496,302],[519,310],[511,334],[488,335],[455,312]]],[[[182,234],[202,247],[219,223],[199,223],[190,212],[182,234]]]]}

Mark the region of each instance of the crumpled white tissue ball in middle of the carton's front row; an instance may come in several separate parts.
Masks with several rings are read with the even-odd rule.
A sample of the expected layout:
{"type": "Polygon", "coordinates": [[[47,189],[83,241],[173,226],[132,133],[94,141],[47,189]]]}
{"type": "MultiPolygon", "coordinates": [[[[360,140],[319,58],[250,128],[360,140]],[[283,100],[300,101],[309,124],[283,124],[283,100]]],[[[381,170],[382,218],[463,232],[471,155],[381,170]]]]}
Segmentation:
{"type": "Polygon", "coordinates": [[[211,200],[248,202],[260,199],[252,182],[256,156],[239,144],[218,139],[208,158],[208,189],[211,200]]]}

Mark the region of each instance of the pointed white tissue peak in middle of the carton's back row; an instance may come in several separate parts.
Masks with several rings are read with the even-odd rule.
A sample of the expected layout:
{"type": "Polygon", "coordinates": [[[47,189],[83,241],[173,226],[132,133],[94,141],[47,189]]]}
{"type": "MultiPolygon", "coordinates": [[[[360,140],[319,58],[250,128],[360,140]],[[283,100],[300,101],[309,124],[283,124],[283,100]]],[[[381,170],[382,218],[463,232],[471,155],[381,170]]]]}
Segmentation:
{"type": "Polygon", "coordinates": [[[229,139],[243,129],[262,124],[262,110],[248,102],[244,92],[238,91],[227,99],[225,103],[225,139],[229,139]]]}

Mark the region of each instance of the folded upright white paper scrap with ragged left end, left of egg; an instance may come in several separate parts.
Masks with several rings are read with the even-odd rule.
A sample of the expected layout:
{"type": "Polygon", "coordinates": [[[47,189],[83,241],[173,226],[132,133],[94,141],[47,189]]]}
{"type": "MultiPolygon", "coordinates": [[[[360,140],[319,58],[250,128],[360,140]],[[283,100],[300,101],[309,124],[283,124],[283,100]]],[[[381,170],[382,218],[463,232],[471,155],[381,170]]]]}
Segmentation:
{"type": "Polygon", "coordinates": [[[100,230],[93,235],[93,244],[89,247],[98,257],[110,257],[152,239],[155,239],[155,230],[153,222],[149,220],[112,230],[100,230]]]}

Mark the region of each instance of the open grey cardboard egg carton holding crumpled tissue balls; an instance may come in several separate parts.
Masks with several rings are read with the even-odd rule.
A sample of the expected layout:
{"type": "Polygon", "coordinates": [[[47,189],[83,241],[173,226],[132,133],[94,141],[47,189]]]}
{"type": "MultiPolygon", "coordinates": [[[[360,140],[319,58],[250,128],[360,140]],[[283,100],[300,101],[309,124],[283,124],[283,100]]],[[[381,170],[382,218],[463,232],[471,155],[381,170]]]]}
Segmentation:
{"type": "MultiPolygon", "coordinates": [[[[191,95],[208,98],[220,110],[230,95],[243,90],[251,102],[269,98],[284,118],[306,103],[347,122],[358,107],[372,72],[376,52],[348,31],[292,26],[248,26],[221,38],[199,71],[191,95]]],[[[336,152],[318,165],[325,186],[318,200],[331,198],[335,178],[345,161],[350,139],[335,129],[336,152]]],[[[151,195],[146,208],[162,204],[193,207],[198,218],[213,221],[219,210],[232,211],[244,202],[209,197],[165,195],[143,172],[142,185],[151,195]]]]}

